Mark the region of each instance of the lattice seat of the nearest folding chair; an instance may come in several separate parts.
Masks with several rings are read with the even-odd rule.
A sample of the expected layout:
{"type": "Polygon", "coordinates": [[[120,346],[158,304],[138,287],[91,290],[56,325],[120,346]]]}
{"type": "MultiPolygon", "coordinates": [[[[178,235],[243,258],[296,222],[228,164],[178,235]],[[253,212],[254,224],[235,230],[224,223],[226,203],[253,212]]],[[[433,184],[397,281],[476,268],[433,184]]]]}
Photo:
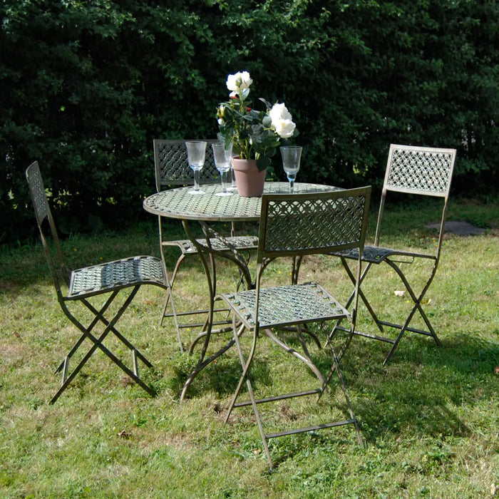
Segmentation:
{"type": "MultiPolygon", "coordinates": [[[[254,327],[254,289],[220,295],[240,316],[247,328],[254,327]]],[[[268,287],[259,290],[259,327],[304,324],[310,321],[349,317],[349,312],[316,282],[268,287]]]]}

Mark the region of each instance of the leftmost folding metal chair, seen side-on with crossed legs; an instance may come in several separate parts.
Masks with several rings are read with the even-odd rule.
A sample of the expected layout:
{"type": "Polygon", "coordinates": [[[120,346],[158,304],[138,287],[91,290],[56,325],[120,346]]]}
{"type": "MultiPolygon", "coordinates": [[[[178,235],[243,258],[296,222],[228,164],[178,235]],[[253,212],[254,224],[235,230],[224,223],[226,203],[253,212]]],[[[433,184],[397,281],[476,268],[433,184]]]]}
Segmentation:
{"type": "MultiPolygon", "coordinates": [[[[151,396],[154,396],[154,390],[148,386],[148,384],[145,384],[139,377],[138,361],[142,361],[147,367],[153,367],[153,365],[123,336],[123,334],[120,334],[118,329],[116,329],[116,323],[133,301],[140,286],[143,284],[153,284],[154,286],[168,289],[163,262],[155,257],[138,256],[115,260],[114,262],[101,263],[91,267],[83,267],[71,272],[66,267],[66,264],[64,264],[56,225],[53,221],[50,207],[48,206],[40,169],[38,168],[38,163],[36,161],[26,170],[26,179],[29,183],[31,200],[33,201],[36,222],[38,222],[38,228],[40,230],[43,251],[45,252],[48,267],[50,268],[53,285],[56,288],[58,302],[61,305],[64,314],[66,314],[66,317],[68,317],[82,333],[81,337],[68,352],[61,365],[56,369],[56,373],[62,373],[62,384],[50,403],[54,403],[59,396],[61,396],[61,393],[63,393],[71,381],[73,381],[76,374],[78,374],[83,365],[86,364],[86,361],[90,359],[97,349],[106,354],[109,359],[120,367],[120,369],[123,369],[135,383],[141,386],[151,396]],[[49,242],[50,240],[51,242],[49,242]],[[63,293],[61,287],[63,283],[67,284],[68,287],[66,294],[63,293]],[[114,316],[108,319],[106,313],[110,312],[110,305],[115,301],[115,298],[118,297],[120,291],[127,288],[131,288],[130,293],[126,299],[124,299],[123,304],[120,305],[114,316]],[[91,302],[93,300],[91,299],[101,294],[108,294],[108,298],[104,304],[100,306],[92,304],[91,302]],[[82,304],[84,309],[90,311],[93,316],[93,319],[89,321],[87,326],[83,324],[83,319],[76,318],[75,312],[78,312],[76,310],[77,307],[74,306],[76,302],[82,304]],[[75,312],[71,312],[70,308],[71,310],[75,309],[75,312]],[[98,324],[103,327],[101,334],[93,332],[98,324]],[[118,356],[104,346],[103,341],[110,333],[112,333],[132,354],[132,369],[126,366],[118,356]],[[80,346],[83,346],[85,340],[90,341],[91,347],[83,356],[83,359],[81,359],[77,366],[68,374],[71,358],[76,354],[76,351],[78,351],[80,346]]],[[[100,302],[102,302],[102,300],[100,300],[100,302]]],[[[83,312],[86,311],[83,310],[83,312]]],[[[87,344],[88,341],[86,342],[87,344]]]]}

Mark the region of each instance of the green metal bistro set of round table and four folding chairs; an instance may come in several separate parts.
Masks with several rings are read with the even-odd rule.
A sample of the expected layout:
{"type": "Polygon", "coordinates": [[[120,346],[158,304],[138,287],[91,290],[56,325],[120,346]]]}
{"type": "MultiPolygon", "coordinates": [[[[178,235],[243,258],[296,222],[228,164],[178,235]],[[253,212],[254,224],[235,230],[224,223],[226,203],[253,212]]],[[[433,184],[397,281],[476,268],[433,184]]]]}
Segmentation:
{"type": "Polygon", "coordinates": [[[225,421],[237,407],[249,406],[252,409],[271,468],[273,461],[268,446],[271,438],[352,425],[359,443],[362,443],[354,408],[341,374],[341,359],[348,354],[353,336],[364,336],[389,344],[385,364],[404,336],[431,336],[436,344],[440,344],[423,303],[441,256],[456,150],[390,145],[374,244],[365,245],[371,187],[346,189],[319,183],[295,183],[295,168],[294,173],[288,174],[288,178],[291,175],[289,183],[265,182],[261,196],[245,197],[235,190],[230,191],[234,187],[230,168],[217,170],[217,166],[220,166],[216,164],[217,140],[195,142],[198,146],[199,143],[204,144],[202,148],[205,153],[202,168],[197,173],[192,168],[193,160],[188,154],[190,151],[185,140],[153,142],[157,192],[143,201],[143,209],[158,217],[160,257],[126,257],[82,269],[68,269],[64,264],[38,163],[33,163],[26,170],[58,302],[66,317],[81,332],[78,341],[58,366],[62,384],[51,403],[61,396],[97,350],[106,354],[151,396],[155,395],[139,373],[140,363],[147,367],[152,364],[118,330],[118,321],[133,302],[138,289],[153,285],[165,290],[161,324],[164,324],[165,318],[171,317],[180,351],[187,349],[189,354],[197,356],[195,368],[182,388],[181,401],[202,370],[210,369],[216,359],[235,349],[240,362],[240,376],[228,403],[225,421]],[[222,181],[218,180],[219,173],[222,181]],[[192,194],[193,190],[202,193],[192,194]],[[441,199],[440,233],[434,251],[416,252],[381,245],[386,197],[392,192],[397,193],[399,198],[402,195],[423,195],[441,199]],[[163,227],[167,220],[180,221],[185,239],[168,239],[168,232],[163,227]],[[257,232],[237,235],[237,225],[243,222],[259,222],[257,232]],[[230,227],[230,230],[226,234],[218,227],[230,227]],[[167,253],[172,248],[180,255],[173,269],[168,269],[166,262],[170,259],[167,253]],[[250,255],[254,262],[249,262],[250,255]],[[351,282],[349,299],[337,297],[338,290],[334,282],[307,282],[300,279],[300,263],[309,255],[326,255],[341,262],[351,282]],[[199,292],[206,294],[206,309],[181,309],[180,301],[175,299],[175,290],[182,286],[178,269],[186,257],[195,257],[202,264],[205,282],[200,284],[199,292]],[[290,282],[269,285],[269,264],[280,258],[292,261],[290,282]],[[230,292],[219,292],[217,289],[217,261],[220,259],[225,259],[230,262],[231,268],[234,267],[237,286],[230,292]],[[431,269],[423,287],[416,291],[404,269],[405,264],[420,259],[431,262],[431,269]],[[379,317],[371,304],[373,300],[367,288],[363,286],[369,279],[371,268],[376,265],[387,265],[395,272],[411,300],[411,309],[401,324],[379,317]],[[99,300],[99,306],[93,303],[93,297],[97,295],[106,295],[103,304],[99,300]],[[118,296],[123,303],[112,317],[108,317],[110,305],[118,296]],[[83,319],[76,314],[73,307],[76,302],[91,312],[93,319],[88,324],[83,323],[83,319]],[[359,331],[356,326],[359,304],[363,304],[369,312],[378,329],[376,334],[359,331]],[[416,315],[425,327],[416,328],[412,325],[416,315]],[[222,320],[215,320],[215,317],[222,317],[222,320]],[[195,327],[200,334],[187,345],[182,338],[182,329],[195,327]],[[341,349],[336,348],[333,341],[339,331],[345,338],[341,349]],[[395,331],[395,334],[390,336],[389,331],[395,331]],[[123,348],[130,352],[131,367],[106,347],[105,340],[109,335],[115,336],[123,348]],[[214,341],[215,336],[217,341],[214,341]],[[243,345],[246,337],[247,342],[243,345]],[[263,339],[268,341],[264,342],[263,339]],[[290,393],[258,395],[252,367],[255,361],[262,358],[263,349],[268,348],[269,342],[289,354],[290,361],[297,364],[294,369],[302,366],[312,374],[309,377],[310,386],[290,393]],[[76,351],[88,344],[90,347],[83,359],[76,366],[70,366],[76,351]],[[323,361],[314,360],[314,354],[309,351],[312,348],[328,353],[328,366],[325,367],[323,361]],[[305,396],[314,396],[319,401],[333,378],[337,378],[337,386],[344,395],[346,418],[321,421],[300,428],[286,425],[282,431],[267,431],[262,417],[264,404],[305,396]]]}

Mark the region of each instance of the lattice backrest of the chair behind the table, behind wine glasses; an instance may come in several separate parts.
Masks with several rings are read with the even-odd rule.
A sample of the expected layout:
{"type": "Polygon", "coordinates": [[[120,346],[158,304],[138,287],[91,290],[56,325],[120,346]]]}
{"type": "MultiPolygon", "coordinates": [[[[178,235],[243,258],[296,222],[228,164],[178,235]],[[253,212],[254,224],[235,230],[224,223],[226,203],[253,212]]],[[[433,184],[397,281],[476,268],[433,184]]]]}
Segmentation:
{"type": "MultiPolygon", "coordinates": [[[[220,178],[215,167],[212,143],[217,139],[205,140],[205,165],[200,173],[200,184],[214,183],[220,178]]],[[[185,140],[154,139],[154,165],[156,174],[156,189],[158,192],[169,185],[193,185],[194,173],[187,162],[187,148],[185,140]]]]}

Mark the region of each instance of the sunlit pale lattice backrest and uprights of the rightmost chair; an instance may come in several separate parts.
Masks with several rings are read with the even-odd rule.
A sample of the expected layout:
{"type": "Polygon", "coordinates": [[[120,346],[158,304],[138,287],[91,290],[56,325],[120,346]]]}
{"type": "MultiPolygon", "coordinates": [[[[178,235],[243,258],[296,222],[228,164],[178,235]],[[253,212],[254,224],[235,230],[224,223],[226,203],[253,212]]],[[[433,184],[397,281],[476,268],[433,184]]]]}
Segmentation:
{"type": "Polygon", "coordinates": [[[438,259],[445,230],[448,194],[451,190],[455,161],[456,149],[390,145],[374,239],[375,245],[379,244],[381,220],[383,219],[387,191],[443,197],[440,236],[437,247],[438,259]]]}

